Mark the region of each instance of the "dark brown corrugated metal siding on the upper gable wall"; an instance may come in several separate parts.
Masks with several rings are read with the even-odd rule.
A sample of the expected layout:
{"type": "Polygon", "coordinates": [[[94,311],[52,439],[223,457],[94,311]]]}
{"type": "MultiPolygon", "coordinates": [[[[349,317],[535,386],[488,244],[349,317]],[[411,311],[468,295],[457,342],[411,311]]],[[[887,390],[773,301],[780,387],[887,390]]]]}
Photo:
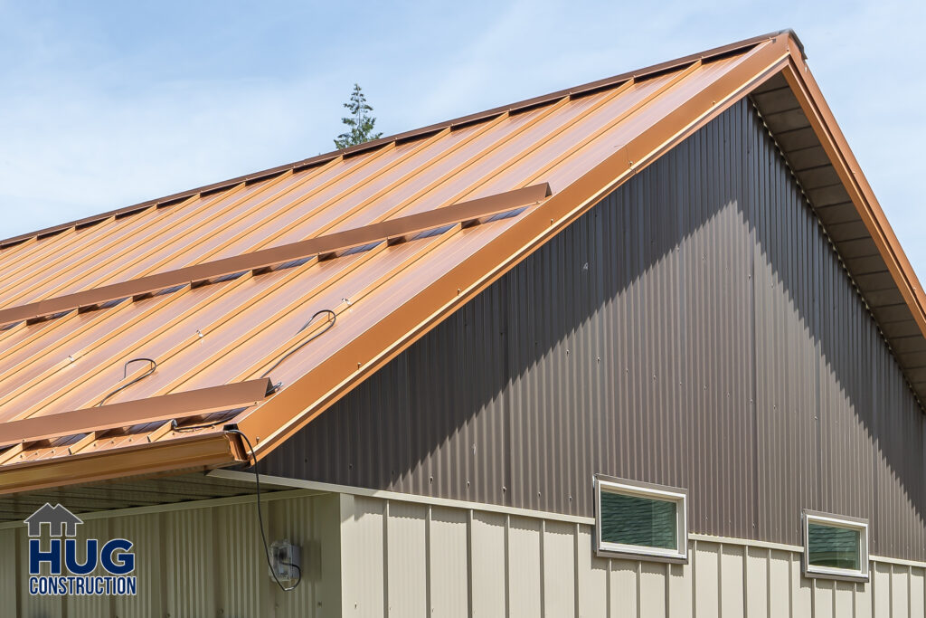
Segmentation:
{"type": "Polygon", "coordinates": [[[269,473],[592,514],[687,487],[695,532],[802,508],[924,560],[923,416],[744,101],[273,453],[269,473]]]}

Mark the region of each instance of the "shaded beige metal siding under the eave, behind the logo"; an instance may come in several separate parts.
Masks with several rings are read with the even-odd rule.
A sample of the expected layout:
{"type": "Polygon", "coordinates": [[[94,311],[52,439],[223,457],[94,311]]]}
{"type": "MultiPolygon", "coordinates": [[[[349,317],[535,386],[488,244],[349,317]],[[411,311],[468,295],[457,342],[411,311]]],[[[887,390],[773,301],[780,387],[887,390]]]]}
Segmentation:
{"type": "Polygon", "coordinates": [[[31,597],[25,527],[0,530],[0,618],[331,616],[340,597],[338,497],[270,498],[264,506],[269,540],[289,538],[302,548],[304,578],[292,593],[270,580],[249,497],[86,519],[79,539],[122,536],[134,544],[136,597],[31,597]]]}

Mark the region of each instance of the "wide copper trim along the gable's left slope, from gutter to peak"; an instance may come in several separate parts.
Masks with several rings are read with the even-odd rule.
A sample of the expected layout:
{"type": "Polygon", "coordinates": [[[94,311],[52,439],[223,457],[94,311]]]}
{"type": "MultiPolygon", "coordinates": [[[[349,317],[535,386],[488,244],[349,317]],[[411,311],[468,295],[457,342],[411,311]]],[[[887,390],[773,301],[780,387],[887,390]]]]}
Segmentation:
{"type": "Polygon", "coordinates": [[[434,281],[400,309],[360,334],[314,371],[241,416],[238,428],[258,459],[317,417],[369,374],[393,359],[449,313],[510,271],[600,199],[673,145],[716,118],[787,66],[791,37],[746,52],[741,64],[669,112],[629,144],[550,197],[469,259],[434,281]]]}

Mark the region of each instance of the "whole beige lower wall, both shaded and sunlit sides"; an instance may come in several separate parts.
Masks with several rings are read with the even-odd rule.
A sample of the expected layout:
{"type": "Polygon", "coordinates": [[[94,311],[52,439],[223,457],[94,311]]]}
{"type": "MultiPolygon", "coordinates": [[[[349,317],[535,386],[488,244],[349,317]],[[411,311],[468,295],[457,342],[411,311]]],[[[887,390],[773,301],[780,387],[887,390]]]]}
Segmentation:
{"type": "Polygon", "coordinates": [[[303,549],[270,581],[253,498],[97,513],[81,536],[135,543],[135,598],[30,597],[24,527],[0,527],[0,616],[20,618],[923,616],[926,565],[875,559],[869,584],[810,580],[800,548],[693,536],[688,564],[594,557],[592,521],[414,496],[286,492],[269,536],[303,549]]]}

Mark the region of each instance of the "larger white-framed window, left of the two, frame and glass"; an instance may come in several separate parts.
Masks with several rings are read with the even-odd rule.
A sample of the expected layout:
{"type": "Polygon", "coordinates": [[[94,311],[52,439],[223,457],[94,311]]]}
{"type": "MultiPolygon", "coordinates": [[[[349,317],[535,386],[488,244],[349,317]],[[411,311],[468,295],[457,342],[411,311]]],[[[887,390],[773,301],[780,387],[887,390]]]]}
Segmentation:
{"type": "Polygon", "coordinates": [[[687,561],[687,497],[684,489],[595,475],[598,555],[687,561]]]}

